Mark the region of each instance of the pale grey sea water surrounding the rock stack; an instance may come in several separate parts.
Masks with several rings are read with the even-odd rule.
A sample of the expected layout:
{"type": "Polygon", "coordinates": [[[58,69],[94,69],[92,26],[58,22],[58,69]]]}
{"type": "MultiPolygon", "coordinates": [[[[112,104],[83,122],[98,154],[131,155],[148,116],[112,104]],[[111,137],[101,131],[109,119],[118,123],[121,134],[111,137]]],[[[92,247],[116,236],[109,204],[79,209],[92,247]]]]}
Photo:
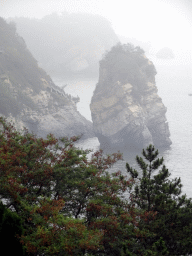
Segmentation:
{"type": "MultiPolygon", "coordinates": [[[[158,60],[151,57],[149,59],[153,61],[157,70],[156,85],[158,94],[167,107],[166,117],[172,141],[170,149],[159,150],[159,157],[164,158],[164,164],[171,173],[170,179],[180,177],[183,184],[182,193],[192,197],[192,96],[189,95],[192,94],[192,62],[185,62],[179,58],[158,60]]],[[[67,80],[53,77],[53,81],[58,86],[67,84],[65,92],[80,97],[77,109],[91,121],[89,104],[98,80],[67,80]]],[[[96,151],[100,144],[95,137],[82,141],[77,146],[96,151]]],[[[111,152],[117,152],[117,150],[114,148],[111,152]]],[[[124,160],[117,162],[111,171],[121,170],[126,175],[126,162],[139,169],[135,161],[136,155],[141,156],[141,152],[123,152],[124,160]]]]}

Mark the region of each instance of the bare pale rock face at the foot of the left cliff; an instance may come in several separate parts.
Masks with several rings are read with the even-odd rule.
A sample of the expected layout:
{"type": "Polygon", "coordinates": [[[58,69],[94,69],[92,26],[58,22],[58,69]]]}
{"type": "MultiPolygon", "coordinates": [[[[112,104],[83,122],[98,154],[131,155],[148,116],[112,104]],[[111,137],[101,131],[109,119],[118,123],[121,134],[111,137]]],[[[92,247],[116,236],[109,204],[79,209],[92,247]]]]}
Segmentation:
{"type": "Polygon", "coordinates": [[[23,105],[18,115],[13,116],[10,113],[6,116],[7,120],[13,121],[17,129],[22,130],[23,127],[26,127],[43,138],[49,133],[54,134],[57,138],[81,134],[82,139],[94,137],[92,123],[77,111],[75,103],[65,98],[66,96],[61,96],[58,101],[53,94],[41,90],[35,97],[27,95],[28,97],[32,96],[31,98],[37,104],[36,109],[23,105]]]}

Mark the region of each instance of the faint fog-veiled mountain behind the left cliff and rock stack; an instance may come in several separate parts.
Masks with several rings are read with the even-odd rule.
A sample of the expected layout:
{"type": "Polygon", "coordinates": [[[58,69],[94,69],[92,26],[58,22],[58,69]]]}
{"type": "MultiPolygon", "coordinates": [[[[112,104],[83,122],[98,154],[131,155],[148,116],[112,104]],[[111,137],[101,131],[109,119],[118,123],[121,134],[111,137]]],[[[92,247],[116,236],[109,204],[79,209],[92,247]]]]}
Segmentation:
{"type": "Polygon", "coordinates": [[[98,75],[102,54],[119,39],[100,15],[53,13],[42,19],[14,18],[39,65],[51,75],[98,75]]]}

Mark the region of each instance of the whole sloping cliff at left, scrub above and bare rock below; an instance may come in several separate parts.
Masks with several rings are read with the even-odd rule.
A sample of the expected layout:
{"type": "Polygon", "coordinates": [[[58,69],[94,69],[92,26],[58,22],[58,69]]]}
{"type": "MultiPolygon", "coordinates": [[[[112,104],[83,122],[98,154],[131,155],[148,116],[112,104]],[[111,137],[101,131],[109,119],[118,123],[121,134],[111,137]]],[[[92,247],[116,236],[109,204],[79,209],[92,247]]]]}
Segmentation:
{"type": "Polygon", "coordinates": [[[14,24],[0,18],[0,115],[38,136],[83,134],[93,137],[92,123],[78,111],[44,70],[38,67],[14,24]]]}

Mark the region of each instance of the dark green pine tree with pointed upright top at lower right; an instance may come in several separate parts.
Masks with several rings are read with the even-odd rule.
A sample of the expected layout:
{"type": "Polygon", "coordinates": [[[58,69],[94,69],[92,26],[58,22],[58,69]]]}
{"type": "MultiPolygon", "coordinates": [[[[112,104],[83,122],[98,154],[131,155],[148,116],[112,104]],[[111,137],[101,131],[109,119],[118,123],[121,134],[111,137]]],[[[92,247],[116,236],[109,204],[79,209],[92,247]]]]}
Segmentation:
{"type": "Polygon", "coordinates": [[[153,235],[138,240],[146,250],[158,248],[161,241],[164,254],[159,255],[189,254],[192,253],[191,198],[181,195],[180,178],[169,179],[171,174],[158,154],[158,150],[149,145],[142,152],[146,161],[136,157],[142,170],[141,177],[138,171],[126,164],[128,173],[137,184],[132,191],[133,203],[139,209],[156,214],[154,219],[142,219],[138,227],[148,229],[153,235]]]}

